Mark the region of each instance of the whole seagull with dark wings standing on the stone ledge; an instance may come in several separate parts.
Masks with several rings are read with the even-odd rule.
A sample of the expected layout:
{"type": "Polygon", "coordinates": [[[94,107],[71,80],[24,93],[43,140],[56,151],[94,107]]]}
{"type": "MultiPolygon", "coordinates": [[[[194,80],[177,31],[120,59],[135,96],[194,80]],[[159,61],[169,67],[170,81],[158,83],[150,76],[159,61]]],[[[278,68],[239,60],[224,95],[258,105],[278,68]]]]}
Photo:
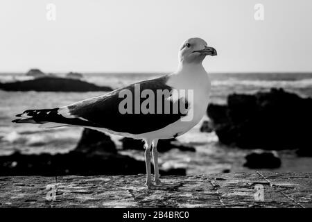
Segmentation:
{"type": "Polygon", "coordinates": [[[202,61],[206,56],[216,55],[216,49],[207,46],[205,40],[189,38],[180,47],[179,65],[171,74],[60,108],[26,110],[17,114],[20,118],[12,122],[37,123],[41,128],[81,126],[142,139],[145,142],[146,187],[170,186],[159,179],[157,142],[187,133],[205,115],[211,84],[202,61]],[[150,166],[152,157],[154,183],[150,166]]]}

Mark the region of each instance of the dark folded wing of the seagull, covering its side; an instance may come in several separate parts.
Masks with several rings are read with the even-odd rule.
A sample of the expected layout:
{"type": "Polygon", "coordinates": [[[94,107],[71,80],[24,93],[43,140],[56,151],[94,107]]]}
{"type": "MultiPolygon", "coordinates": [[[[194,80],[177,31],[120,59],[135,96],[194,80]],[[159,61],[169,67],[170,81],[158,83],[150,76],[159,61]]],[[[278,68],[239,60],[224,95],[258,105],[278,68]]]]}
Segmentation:
{"type": "MultiPolygon", "coordinates": [[[[171,91],[173,88],[166,85],[169,76],[162,76],[153,80],[146,80],[139,83],[140,92],[144,89],[150,89],[155,95],[155,110],[159,98],[157,97],[157,89],[168,89],[171,91]]],[[[141,134],[148,133],[151,131],[159,130],[168,126],[171,123],[179,120],[180,118],[187,115],[187,113],[177,112],[173,114],[172,107],[173,103],[183,103],[184,108],[188,108],[187,100],[185,98],[174,100],[169,98],[170,96],[162,96],[162,108],[164,108],[165,100],[169,100],[171,105],[171,112],[168,114],[135,114],[135,84],[128,85],[121,89],[116,89],[103,96],[97,96],[92,99],[80,101],[62,107],[58,110],[58,114],[62,115],[66,119],[76,119],[79,123],[75,124],[78,126],[94,126],[98,128],[105,128],[119,133],[130,133],[130,134],[141,134]],[[119,104],[124,98],[119,98],[119,94],[123,89],[128,89],[132,93],[132,114],[121,114],[119,110],[119,104]]],[[[146,98],[140,99],[141,103],[146,98]]],[[[168,101],[166,101],[168,104],[168,101]]],[[[176,104],[175,104],[176,105],[176,104]]],[[[164,111],[164,110],[163,110],[164,111]]],[[[156,112],[156,111],[155,111],[156,112]]]]}

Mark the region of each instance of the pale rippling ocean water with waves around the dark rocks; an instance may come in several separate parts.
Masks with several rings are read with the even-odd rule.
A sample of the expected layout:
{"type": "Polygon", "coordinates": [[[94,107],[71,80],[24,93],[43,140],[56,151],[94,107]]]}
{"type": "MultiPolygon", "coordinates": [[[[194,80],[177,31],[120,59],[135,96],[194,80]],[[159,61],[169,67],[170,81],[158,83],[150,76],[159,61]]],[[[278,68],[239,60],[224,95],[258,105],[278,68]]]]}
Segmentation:
{"type": "MultiPolygon", "coordinates": [[[[58,74],[62,76],[63,74],[58,74]]],[[[84,80],[97,85],[113,88],[135,83],[159,74],[84,74],[84,80]]],[[[271,87],[282,87],[302,97],[312,97],[312,74],[309,73],[243,73],[210,74],[210,103],[226,103],[232,93],[253,94],[271,87]]],[[[24,74],[0,74],[0,82],[26,80],[24,74]]],[[[11,120],[24,110],[32,108],[56,108],[87,99],[105,92],[5,92],[0,90],[0,155],[14,151],[21,153],[67,153],[75,148],[82,128],[59,128],[42,130],[31,124],[15,124],[11,120]]],[[[289,117],[291,118],[291,117],[289,117]]],[[[205,120],[207,117],[202,119],[205,120]]],[[[173,149],[159,156],[163,168],[184,167],[187,174],[252,171],[243,167],[245,155],[251,150],[223,146],[214,133],[200,133],[200,125],[177,139],[194,146],[195,153],[173,149]]],[[[121,137],[112,136],[117,147],[121,147],[121,137]]],[[[281,167],[273,171],[312,171],[312,157],[297,157],[295,151],[277,151],[281,157],[281,167]]],[[[144,160],[144,151],[120,151],[139,160],[144,160]]],[[[272,170],[271,170],[272,171],[272,170]]]]}

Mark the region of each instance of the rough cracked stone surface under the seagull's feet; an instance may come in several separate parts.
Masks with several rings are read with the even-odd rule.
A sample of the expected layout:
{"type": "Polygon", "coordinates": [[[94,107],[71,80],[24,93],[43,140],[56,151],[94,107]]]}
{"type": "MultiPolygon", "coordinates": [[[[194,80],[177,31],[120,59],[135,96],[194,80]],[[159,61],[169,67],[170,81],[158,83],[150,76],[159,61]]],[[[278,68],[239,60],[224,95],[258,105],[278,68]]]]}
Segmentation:
{"type": "Polygon", "coordinates": [[[7,176],[0,177],[0,207],[312,207],[311,176],[272,172],[165,176],[162,182],[182,184],[152,190],[144,186],[142,174],[7,176]]]}

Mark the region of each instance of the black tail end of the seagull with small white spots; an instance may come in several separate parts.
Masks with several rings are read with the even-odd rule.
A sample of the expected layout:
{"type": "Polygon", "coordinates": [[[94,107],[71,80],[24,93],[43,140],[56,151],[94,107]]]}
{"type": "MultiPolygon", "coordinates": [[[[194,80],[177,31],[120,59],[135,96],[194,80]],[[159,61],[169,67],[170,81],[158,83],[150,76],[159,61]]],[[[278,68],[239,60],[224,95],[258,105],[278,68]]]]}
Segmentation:
{"type": "MultiPolygon", "coordinates": [[[[62,123],[62,117],[58,114],[58,108],[44,110],[26,110],[16,117],[20,119],[12,120],[13,123],[37,123],[42,124],[42,128],[58,128],[68,126],[62,123]]],[[[63,117],[64,118],[64,117],[63,117]]]]}

